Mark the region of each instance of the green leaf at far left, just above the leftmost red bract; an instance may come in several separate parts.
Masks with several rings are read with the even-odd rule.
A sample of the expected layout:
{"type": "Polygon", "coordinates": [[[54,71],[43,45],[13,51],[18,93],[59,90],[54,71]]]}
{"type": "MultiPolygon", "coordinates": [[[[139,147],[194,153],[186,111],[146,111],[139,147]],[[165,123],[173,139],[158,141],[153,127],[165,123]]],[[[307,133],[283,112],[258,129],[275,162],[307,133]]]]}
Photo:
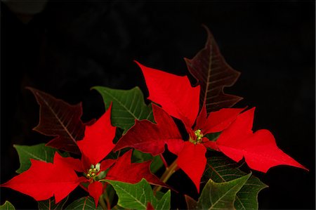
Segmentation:
{"type": "Polygon", "coordinates": [[[20,159],[20,168],[16,170],[17,173],[27,171],[31,166],[30,158],[38,159],[44,162],[53,162],[53,157],[56,149],[52,147],[46,147],[44,143],[39,145],[25,146],[25,145],[13,145],[15,150],[18,151],[20,159]]]}

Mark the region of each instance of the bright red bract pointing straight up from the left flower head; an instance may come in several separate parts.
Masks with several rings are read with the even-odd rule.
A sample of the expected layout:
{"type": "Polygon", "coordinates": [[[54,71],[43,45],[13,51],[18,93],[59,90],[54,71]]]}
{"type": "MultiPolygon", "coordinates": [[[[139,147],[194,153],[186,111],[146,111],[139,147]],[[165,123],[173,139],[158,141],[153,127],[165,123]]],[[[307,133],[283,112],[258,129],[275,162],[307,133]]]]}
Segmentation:
{"type": "Polygon", "coordinates": [[[112,105],[97,122],[86,126],[84,139],[77,142],[86,169],[90,168],[91,164],[98,164],[114,148],[112,141],[116,127],[112,126],[110,121],[111,107],[112,105]]]}

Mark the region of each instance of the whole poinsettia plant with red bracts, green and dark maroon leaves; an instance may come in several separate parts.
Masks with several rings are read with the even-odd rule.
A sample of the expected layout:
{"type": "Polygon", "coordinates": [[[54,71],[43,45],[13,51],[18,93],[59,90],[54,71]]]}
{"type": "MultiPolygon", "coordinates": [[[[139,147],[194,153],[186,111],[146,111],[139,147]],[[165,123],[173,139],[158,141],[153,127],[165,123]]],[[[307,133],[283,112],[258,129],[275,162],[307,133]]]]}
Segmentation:
{"type": "MultiPolygon", "coordinates": [[[[184,197],[187,209],[258,209],[258,192],[267,186],[249,169],[308,169],[282,152],[270,131],[252,131],[254,107],[232,108],[242,98],[223,88],[235,84],[239,72],[206,31],[205,48],[185,59],[196,84],[136,61],[149,105],[138,87],[96,86],[106,111],[84,123],[81,104],[29,88],[40,105],[34,131],[54,138],[46,145],[15,145],[19,174],[1,187],[33,197],[39,209],[171,209],[177,207],[171,192],[184,197]],[[195,186],[192,195],[169,181],[178,171],[191,182],[185,185],[195,186]],[[77,187],[86,197],[68,201],[77,187]]],[[[3,206],[14,209],[9,202],[3,206]]]]}

